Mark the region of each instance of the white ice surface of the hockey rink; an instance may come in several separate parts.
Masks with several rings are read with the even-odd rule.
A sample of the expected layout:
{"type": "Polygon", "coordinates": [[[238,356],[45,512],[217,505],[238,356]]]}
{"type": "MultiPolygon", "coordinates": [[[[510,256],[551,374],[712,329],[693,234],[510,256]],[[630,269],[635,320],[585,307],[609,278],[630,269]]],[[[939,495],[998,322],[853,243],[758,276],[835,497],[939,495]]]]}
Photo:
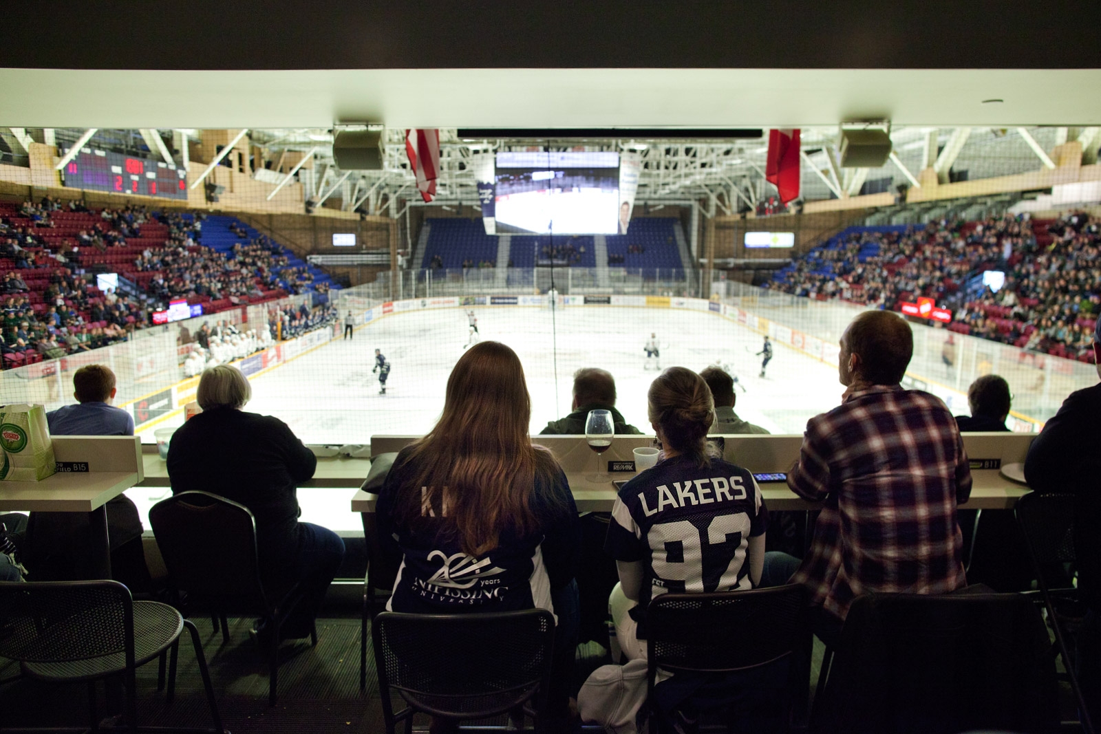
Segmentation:
{"type": "MultiPolygon", "coordinates": [[[[727,365],[739,379],[739,416],[772,432],[802,434],[807,418],[837,406],[843,391],[836,366],[785,344],[774,346],[766,376],[759,376],[762,358],[754,352],[763,338],[708,311],[480,306],[476,316],[482,340],[504,342],[520,354],[532,394],[533,435],[570,412],[573,375],[584,366],[609,370],[619,392],[617,407],[629,423],[650,432],[646,390],[657,365],[647,365],[643,346],[651,333],[661,344],[662,369],[699,371],[717,361],[727,365]]],[[[251,377],[252,401],[246,409],[282,418],[307,443],[367,443],[372,434],[422,435],[438,418],[447,377],[468,342],[465,309],[389,315],[359,327],[352,339],[337,338],[251,377]],[[371,371],[375,349],[392,365],[385,395],[379,394],[371,371]]]]}

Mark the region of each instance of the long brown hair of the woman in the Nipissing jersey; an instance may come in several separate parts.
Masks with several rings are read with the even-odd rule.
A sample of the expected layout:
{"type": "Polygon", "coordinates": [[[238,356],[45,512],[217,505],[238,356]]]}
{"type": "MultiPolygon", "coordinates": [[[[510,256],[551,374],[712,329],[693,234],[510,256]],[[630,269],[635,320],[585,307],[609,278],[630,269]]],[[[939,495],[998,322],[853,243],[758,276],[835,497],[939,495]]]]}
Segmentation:
{"type": "Polygon", "coordinates": [[[535,532],[535,483],[554,481],[562,469],[532,445],[531,414],[516,353],[497,341],[467,350],[447,380],[443,415],[412,446],[407,461],[415,470],[401,489],[399,519],[416,523],[433,507],[462,552],[476,557],[495,548],[504,529],[535,532]]]}

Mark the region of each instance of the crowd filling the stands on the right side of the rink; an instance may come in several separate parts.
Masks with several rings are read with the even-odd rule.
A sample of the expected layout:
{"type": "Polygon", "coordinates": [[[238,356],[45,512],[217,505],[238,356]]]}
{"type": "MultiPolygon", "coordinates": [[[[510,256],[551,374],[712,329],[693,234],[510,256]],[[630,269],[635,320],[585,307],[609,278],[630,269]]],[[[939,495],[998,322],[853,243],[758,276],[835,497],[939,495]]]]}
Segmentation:
{"type": "Polygon", "coordinates": [[[1084,213],[1050,223],[1027,216],[940,221],[850,234],[837,247],[811,251],[766,287],[889,309],[927,296],[955,311],[955,331],[1090,360],[1101,315],[1099,251],[1098,220],[1084,213]],[[1003,271],[1004,286],[967,295],[968,278],[986,270],[1003,271]]]}

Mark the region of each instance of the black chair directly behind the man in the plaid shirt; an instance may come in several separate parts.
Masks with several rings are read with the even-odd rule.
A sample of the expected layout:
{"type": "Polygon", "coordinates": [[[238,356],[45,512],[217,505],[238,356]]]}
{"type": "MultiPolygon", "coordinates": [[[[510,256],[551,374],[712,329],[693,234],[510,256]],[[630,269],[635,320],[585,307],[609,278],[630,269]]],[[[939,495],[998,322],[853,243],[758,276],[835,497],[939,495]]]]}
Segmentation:
{"type": "Polygon", "coordinates": [[[1058,727],[1039,611],[1017,593],[860,596],[815,721],[818,731],[852,734],[1058,727]]]}

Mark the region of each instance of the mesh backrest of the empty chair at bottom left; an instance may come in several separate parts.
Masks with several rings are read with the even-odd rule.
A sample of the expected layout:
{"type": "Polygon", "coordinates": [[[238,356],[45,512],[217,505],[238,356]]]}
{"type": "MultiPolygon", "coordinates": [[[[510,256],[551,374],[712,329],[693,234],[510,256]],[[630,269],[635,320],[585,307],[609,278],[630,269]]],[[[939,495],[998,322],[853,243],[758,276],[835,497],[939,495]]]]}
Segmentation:
{"type": "Polygon", "coordinates": [[[126,653],[133,603],[118,581],[0,582],[0,657],[73,662],[126,653]]]}

